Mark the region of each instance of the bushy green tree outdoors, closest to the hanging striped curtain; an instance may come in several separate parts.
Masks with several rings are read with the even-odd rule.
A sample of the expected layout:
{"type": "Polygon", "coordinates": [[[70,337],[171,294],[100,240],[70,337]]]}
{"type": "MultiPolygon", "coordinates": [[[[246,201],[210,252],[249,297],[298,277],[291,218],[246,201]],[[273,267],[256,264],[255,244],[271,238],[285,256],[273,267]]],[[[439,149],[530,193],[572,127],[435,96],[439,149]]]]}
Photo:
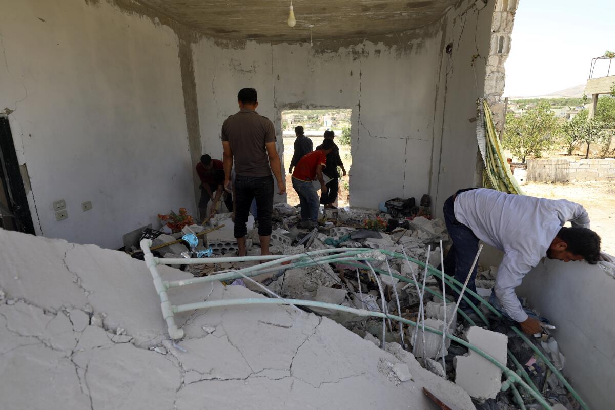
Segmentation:
{"type": "Polygon", "coordinates": [[[550,110],[549,103],[541,101],[522,117],[515,118],[512,112],[506,115],[502,144],[525,164],[526,157],[540,157],[542,151],[550,149],[557,133],[555,112],[550,110]]]}

